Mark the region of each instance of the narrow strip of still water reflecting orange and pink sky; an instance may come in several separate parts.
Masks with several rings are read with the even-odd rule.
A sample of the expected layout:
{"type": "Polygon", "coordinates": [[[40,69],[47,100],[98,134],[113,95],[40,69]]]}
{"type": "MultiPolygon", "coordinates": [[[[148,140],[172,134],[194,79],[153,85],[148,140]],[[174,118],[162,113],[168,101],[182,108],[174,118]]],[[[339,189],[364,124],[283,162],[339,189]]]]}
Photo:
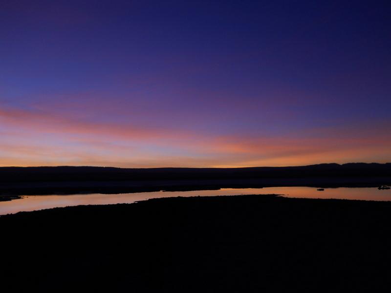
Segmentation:
{"type": "Polygon", "coordinates": [[[377,188],[326,188],[325,191],[317,191],[316,188],[309,187],[221,188],[219,190],[156,191],[121,194],[29,195],[23,196],[21,199],[0,202],[0,215],[16,213],[19,211],[78,205],[134,203],[135,201],[156,197],[271,193],[283,194],[286,197],[300,198],[338,198],[378,201],[391,200],[391,190],[378,190],[377,188]]]}

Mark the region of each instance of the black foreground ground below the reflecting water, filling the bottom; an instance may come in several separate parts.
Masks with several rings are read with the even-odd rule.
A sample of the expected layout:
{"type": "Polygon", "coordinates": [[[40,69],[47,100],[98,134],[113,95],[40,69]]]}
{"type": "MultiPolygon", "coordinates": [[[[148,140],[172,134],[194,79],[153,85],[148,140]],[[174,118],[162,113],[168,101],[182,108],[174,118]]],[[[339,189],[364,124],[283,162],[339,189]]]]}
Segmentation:
{"type": "Polygon", "coordinates": [[[153,199],[0,217],[4,292],[390,292],[391,202],[153,199]]]}

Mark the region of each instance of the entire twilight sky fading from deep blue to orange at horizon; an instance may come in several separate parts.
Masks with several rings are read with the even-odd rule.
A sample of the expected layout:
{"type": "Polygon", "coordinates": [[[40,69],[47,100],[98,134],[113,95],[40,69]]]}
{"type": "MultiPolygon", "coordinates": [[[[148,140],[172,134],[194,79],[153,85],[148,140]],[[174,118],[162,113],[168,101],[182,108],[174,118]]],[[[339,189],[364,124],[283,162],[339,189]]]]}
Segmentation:
{"type": "Polygon", "coordinates": [[[390,1],[0,1],[0,167],[391,162],[390,1]]]}

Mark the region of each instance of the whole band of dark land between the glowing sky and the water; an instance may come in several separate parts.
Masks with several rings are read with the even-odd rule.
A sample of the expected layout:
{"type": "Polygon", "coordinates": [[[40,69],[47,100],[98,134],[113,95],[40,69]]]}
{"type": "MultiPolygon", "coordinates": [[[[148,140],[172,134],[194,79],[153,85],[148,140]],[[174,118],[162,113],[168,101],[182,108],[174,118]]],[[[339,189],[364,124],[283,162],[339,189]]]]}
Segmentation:
{"type": "Polygon", "coordinates": [[[248,168],[0,168],[2,196],[273,186],[378,187],[390,184],[391,163],[248,168]]]}

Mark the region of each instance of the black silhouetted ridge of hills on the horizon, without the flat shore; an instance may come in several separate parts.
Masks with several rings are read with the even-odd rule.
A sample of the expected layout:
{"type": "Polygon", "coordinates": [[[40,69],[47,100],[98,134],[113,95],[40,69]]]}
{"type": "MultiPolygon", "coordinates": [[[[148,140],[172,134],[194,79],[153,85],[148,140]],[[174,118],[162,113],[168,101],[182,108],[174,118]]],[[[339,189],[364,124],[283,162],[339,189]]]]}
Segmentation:
{"type": "Polygon", "coordinates": [[[391,177],[391,163],[349,163],[344,165],[320,164],[301,167],[245,168],[0,167],[0,182],[347,177],[391,177]]]}

